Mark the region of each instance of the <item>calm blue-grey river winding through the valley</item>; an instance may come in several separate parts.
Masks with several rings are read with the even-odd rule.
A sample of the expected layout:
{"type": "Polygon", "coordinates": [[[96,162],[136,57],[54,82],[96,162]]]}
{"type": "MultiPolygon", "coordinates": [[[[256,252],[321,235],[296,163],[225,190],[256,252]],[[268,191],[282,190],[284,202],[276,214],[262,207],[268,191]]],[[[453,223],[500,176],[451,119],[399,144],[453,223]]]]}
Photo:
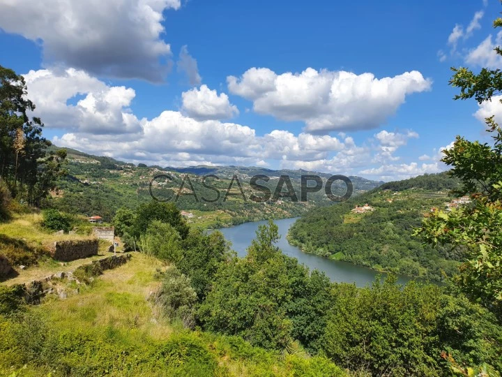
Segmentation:
{"type": "MultiPolygon", "coordinates": [[[[364,287],[372,283],[378,274],[385,276],[385,273],[377,272],[367,267],[304,253],[300,248],[289,244],[286,239],[287,232],[296,220],[297,218],[274,221],[279,228],[280,240],[277,242],[277,246],[280,247],[282,253],[298,259],[299,263],[303,263],[311,270],[319,269],[319,271],[324,272],[331,281],[338,283],[356,283],[356,286],[364,287]]],[[[221,228],[219,230],[225,235],[225,238],[232,243],[232,249],[237,252],[238,256],[243,257],[246,255],[246,249],[250,246],[251,240],[256,236],[258,226],[266,223],[267,221],[254,221],[231,228],[221,228]]],[[[398,283],[402,284],[412,279],[413,278],[409,276],[397,276],[398,283]]]]}

